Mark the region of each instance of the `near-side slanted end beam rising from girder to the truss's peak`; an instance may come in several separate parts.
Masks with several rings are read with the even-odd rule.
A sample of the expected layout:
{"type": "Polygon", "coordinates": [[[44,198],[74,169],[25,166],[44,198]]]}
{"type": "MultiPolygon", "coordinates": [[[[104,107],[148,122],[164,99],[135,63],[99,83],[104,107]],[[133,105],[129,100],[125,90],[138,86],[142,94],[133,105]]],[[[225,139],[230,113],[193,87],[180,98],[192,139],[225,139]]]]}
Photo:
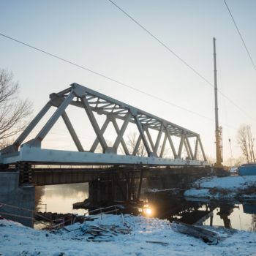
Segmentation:
{"type": "Polygon", "coordinates": [[[48,134],[50,129],[53,127],[53,125],[56,123],[56,121],[59,119],[59,117],[62,115],[64,110],[67,108],[70,102],[72,102],[72,99],[75,97],[73,92],[71,91],[70,94],[67,96],[66,99],[61,103],[59,108],[53,113],[53,116],[48,120],[48,122],[45,124],[44,127],[42,127],[41,131],[38,133],[37,137],[34,138],[33,142],[31,143],[32,146],[41,146],[41,141],[45,138],[45,136],[48,134]]]}

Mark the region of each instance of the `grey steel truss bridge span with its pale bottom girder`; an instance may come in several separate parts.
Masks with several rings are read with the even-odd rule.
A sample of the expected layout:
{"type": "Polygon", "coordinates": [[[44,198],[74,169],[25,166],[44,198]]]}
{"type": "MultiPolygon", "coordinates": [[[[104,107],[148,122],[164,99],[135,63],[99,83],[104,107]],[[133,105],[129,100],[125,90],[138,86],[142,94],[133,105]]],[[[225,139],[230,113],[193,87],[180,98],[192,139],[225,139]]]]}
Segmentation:
{"type": "Polygon", "coordinates": [[[68,89],[59,93],[50,94],[50,100],[39,111],[29,126],[11,146],[1,150],[0,165],[19,162],[29,162],[33,165],[208,165],[200,135],[197,133],[134,108],[124,102],[119,102],[97,91],[80,86],[78,83],[72,83],[68,89]],[[84,150],[67,116],[65,110],[69,105],[83,108],[94,129],[96,139],[89,151],[84,150]],[[42,117],[45,116],[45,113],[52,107],[56,108],[55,112],[36,137],[23,143],[42,117]],[[101,127],[97,121],[97,114],[105,116],[105,122],[101,127]],[[60,117],[63,118],[64,124],[78,151],[51,150],[41,147],[42,140],[44,140],[60,117]],[[118,125],[120,121],[117,122],[117,120],[121,120],[122,124],[118,125]],[[116,140],[113,146],[108,146],[104,136],[105,130],[110,123],[113,124],[116,130],[116,140]],[[128,124],[135,124],[138,131],[138,138],[133,152],[129,152],[124,139],[124,132],[127,130],[128,124]],[[153,131],[157,132],[155,141],[151,135],[153,131]],[[176,140],[178,138],[178,146],[173,143],[174,138],[176,140]],[[192,146],[189,139],[195,141],[193,143],[195,145],[192,146]],[[147,157],[138,156],[141,143],[146,149],[147,157]],[[171,152],[170,156],[164,157],[167,143],[170,145],[171,152]],[[95,152],[98,145],[102,147],[102,153],[95,152]],[[119,153],[118,147],[122,148],[124,154],[119,153]],[[199,151],[201,157],[203,156],[201,159],[199,159],[199,151]],[[184,152],[186,154],[185,157],[183,156],[184,152]]]}

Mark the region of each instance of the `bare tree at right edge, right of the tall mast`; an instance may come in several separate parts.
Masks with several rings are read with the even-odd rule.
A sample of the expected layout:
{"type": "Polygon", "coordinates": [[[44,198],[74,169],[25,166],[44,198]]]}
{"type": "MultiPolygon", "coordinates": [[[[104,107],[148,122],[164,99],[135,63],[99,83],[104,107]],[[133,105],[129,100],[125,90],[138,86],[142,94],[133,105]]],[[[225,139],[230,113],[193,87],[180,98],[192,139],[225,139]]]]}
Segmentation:
{"type": "Polygon", "coordinates": [[[251,125],[242,125],[238,129],[237,142],[247,162],[255,162],[254,141],[251,125]]]}

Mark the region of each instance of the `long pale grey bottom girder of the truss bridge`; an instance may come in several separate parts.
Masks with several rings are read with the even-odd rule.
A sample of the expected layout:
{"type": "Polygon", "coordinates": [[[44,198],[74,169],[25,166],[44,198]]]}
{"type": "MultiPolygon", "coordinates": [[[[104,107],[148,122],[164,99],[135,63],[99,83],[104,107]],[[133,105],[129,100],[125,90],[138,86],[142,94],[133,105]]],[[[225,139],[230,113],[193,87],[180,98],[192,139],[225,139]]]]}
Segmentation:
{"type": "Polygon", "coordinates": [[[1,164],[3,165],[15,162],[31,162],[44,165],[208,165],[208,162],[189,159],[166,159],[159,157],[61,151],[31,148],[26,145],[24,145],[18,152],[5,154],[4,158],[1,159],[1,164]]]}

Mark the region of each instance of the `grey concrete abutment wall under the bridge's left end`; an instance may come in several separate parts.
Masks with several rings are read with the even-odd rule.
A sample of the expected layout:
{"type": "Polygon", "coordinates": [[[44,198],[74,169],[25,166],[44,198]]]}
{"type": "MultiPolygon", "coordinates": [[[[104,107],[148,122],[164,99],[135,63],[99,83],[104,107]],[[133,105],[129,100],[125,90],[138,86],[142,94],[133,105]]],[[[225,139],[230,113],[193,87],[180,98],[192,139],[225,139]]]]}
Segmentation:
{"type": "Polygon", "coordinates": [[[31,218],[34,217],[34,214],[32,211],[24,209],[34,211],[34,196],[33,186],[19,187],[19,172],[0,172],[0,203],[3,203],[3,206],[0,207],[0,215],[2,217],[33,227],[34,223],[31,218]]]}

